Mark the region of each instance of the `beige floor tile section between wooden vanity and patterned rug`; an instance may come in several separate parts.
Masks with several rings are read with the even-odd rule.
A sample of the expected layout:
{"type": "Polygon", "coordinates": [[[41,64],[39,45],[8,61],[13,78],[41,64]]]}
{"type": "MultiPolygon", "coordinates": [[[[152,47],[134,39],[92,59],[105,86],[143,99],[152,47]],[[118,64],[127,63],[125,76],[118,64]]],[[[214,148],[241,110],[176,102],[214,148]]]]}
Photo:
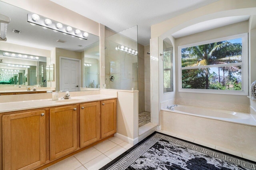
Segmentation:
{"type": "Polygon", "coordinates": [[[44,170],[98,170],[132,145],[112,137],[44,170]]]}

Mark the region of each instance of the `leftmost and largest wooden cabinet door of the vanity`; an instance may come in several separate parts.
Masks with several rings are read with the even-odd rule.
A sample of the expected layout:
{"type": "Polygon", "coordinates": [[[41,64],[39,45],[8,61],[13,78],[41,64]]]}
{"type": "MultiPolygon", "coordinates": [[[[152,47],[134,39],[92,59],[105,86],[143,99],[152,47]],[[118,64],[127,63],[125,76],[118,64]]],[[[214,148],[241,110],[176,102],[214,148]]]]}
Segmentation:
{"type": "Polygon", "coordinates": [[[46,161],[45,110],[2,117],[3,169],[30,170],[46,161]]]}

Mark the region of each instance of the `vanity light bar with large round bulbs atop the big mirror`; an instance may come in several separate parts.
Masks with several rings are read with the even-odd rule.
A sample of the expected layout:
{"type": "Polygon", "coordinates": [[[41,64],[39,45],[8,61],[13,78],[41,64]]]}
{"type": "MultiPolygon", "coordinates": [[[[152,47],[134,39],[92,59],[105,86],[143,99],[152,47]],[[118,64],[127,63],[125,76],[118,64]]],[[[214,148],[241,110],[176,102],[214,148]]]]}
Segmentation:
{"type": "Polygon", "coordinates": [[[54,32],[62,32],[65,35],[69,34],[71,36],[78,37],[80,40],[87,40],[89,36],[88,32],[83,32],[77,28],[72,28],[71,26],[62,24],[38,14],[29,13],[28,22],[30,22],[31,25],[42,26],[44,29],[50,28],[54,32]]]}

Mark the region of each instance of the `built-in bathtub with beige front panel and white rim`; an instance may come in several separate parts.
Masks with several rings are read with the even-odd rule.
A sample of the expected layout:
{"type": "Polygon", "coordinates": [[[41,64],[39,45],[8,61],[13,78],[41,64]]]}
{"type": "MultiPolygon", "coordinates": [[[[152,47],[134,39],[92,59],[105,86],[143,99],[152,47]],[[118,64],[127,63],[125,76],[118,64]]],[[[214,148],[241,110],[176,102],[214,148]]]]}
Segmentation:
{"type": "Polygon", "coordinates": [[[250,113],[178,105],[174,110],[161,109],[160,125],[164,131],[215,145],[216,149],[256,157],[256,121],[250,113]]]}

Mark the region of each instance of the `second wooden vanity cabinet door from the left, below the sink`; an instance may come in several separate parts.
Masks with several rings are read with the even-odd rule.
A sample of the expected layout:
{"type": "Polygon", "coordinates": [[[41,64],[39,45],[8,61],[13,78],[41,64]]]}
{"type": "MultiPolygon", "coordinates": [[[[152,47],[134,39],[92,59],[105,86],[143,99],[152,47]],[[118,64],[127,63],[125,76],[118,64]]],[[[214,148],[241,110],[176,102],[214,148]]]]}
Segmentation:
{"type": "Polygon", "coordinates": [[[50,160],[77,148],[76,105],[50,109],[50,160]]]}

